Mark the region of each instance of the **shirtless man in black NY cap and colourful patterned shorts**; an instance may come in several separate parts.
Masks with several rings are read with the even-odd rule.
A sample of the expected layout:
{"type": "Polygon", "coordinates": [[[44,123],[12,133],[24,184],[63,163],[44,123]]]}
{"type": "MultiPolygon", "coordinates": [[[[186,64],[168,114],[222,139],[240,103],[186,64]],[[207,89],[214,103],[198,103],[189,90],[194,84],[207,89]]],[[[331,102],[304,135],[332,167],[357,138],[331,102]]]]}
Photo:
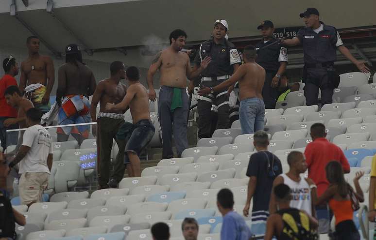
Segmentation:
{"type": "MultiPolygon", "coordinates": [[[[68,45],[65,53],[66,63],[59,68],[59,85],[56,90],[56,103],[60,106],[58,124],[90,122],[89,96],[93,95],[97,86],[93,72],[82,63],[78,45],[68,45]]],[[[57,128],[57,141],[67,141],[71,134],[81,145],[89,137],[89,130],[89,125],[57,128]]]]}

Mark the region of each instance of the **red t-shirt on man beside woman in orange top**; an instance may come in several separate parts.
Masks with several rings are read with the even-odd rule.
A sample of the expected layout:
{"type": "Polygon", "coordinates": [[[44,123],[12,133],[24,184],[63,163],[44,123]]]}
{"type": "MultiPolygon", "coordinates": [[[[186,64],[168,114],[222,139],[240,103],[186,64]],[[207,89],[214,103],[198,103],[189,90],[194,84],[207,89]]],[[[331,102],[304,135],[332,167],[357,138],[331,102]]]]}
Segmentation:
{"type": "Polygon", "coordinates": [[[350,165],[343,154],[342,149],[329,142],[325,137],[315,139],[308,143],[306,150],[306,162],[308,166],[308,178],[317,185],[317,195],[322,195],[329,186],[326,180],[325,167],[331,161],[341,163],[344,172],[350,171],[350,165]]]}

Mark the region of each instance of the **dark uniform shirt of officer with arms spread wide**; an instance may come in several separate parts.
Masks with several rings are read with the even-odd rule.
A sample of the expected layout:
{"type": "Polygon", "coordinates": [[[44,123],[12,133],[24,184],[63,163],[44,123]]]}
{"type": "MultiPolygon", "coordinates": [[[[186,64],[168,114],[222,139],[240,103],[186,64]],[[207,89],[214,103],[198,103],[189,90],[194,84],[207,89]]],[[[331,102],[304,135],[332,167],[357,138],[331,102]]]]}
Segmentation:
{"type": "Polygon", "coordinates": [[[296,38],[303,45],[305,63],[324,63],[337,60],[337,47],[343,45],[337,29],[321,22],[318,29],[299,30],[296,38]]]}

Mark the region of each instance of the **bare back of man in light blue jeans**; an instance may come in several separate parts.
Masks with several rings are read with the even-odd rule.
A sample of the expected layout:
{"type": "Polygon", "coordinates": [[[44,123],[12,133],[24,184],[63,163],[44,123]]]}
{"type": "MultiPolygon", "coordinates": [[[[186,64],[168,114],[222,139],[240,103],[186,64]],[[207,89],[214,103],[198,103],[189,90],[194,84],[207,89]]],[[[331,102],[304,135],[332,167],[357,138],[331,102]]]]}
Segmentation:
{"type": "Polygon", "coordinates": [[[239,80],[240,101],[246,98],[255,97],[262,99],[262,88],[265,82],[265,69],[256,62],[247,62],[239,68],[244,68],[243,71],[245,71],[245,74],[239,80]]]}

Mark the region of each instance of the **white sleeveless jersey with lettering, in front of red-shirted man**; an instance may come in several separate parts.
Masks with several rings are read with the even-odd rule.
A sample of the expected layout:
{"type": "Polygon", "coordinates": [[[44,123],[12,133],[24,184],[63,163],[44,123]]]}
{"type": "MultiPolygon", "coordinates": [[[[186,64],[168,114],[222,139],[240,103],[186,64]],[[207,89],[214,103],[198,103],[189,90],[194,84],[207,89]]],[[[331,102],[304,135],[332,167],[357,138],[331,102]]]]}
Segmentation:
{"type": "Polygon", "coordinates": [[[312,215],[312,198],[311,190],[306,179],[301,178],[300,182],[291,180],[286,174],[281,174],[283,182],[291,189],[290,207],[305,210],[312,215]]]}

